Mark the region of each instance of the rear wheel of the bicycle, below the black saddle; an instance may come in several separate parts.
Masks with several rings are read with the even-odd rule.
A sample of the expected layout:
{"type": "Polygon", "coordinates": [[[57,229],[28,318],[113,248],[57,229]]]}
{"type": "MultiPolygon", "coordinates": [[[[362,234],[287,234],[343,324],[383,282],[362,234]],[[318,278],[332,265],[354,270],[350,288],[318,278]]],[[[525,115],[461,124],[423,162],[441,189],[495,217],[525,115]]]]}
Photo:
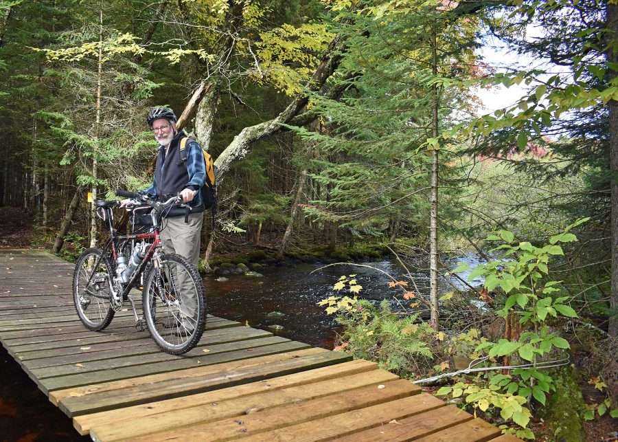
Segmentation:
{"type": "Polygon", "coordinates": [[[114,317],[110,287],[112,276],[111,264],[101,249],[84,250],[75,263],[73,302],[80,320],[89,330],[104,329],[114,317]]]}

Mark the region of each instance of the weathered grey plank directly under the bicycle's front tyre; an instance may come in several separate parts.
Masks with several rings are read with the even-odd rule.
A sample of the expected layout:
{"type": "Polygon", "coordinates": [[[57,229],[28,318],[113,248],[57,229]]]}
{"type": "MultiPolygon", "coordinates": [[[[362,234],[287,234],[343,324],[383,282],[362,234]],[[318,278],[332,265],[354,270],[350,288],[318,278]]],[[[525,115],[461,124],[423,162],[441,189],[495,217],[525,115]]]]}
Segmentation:
{"type": "MultiPolygon", "coordinates": [[[[150,355],[138,355],[138,356],[121,356],[115,357],[111,360],[95,360],[84,362],[84,364],[62,365],[44,368],[33,368],[30,373],[37,379],[47,379],[48,377],[60,377],[67,375],[76,375],[78,373],[91,373],[103,370],[115,370],[116,368],[138,366],[141,364],[151,364],[153,362],[173,361],[179,359],[190,359],[192,357],[203,357],[205,355],[214,355],[216,353],[225,353],[228,351],[255,349],[256,347],[280,344],[282,342],[288,342],[285,338],[279,336],[267,336],[266,338],[242,340],[235,342],[226,342],[225,344],[212,344],[204,349],[203,347],[196,347],[181,356],[170,355],[169,353],[163,353],[161,351],[152,353],[150,355]],[[207,350],[208,353],[204,353],[207,350]]],[[[27,368],[27,367],[26,367],[27,368]]]]}

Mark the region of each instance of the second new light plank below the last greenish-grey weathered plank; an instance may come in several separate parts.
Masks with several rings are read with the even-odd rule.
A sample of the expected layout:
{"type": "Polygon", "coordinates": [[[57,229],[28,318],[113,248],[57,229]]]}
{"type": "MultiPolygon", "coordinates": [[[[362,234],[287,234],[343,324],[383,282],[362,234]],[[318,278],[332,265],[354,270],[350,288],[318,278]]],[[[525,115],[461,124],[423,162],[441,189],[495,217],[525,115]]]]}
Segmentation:
{"type": "MultiPolygon", "coordinates": [[[[146,434],[169,431],[174,428],[220,421],[230,417],[244,419],[247,412],[266,410],[286,404],[298,404],[300,401],[318,399],[325,396],[355,390],[358,395],[363,395],[363,388],[376,387],[378,384],[396,382],[398,376],[384,370],[374,370],[367,373],[328,379],[321,382],[303,386],[291,386],[282,390],[268,391],[258,395],[243,396],[225,401],[209,402],[207,404],[183,408],[180,410],[168,410],[165,413],[141,417],[131,421],[130,426],[118,426],[117,423],[108,423],[91,427],[93,439],[100,441],[116,441],[119,439],[131,439],[143,437],[146,434]],[[215,405],[216,404],[216,405],[215,405]]],[[[217,425],[216,423],[214,424],[217,425]]]]}

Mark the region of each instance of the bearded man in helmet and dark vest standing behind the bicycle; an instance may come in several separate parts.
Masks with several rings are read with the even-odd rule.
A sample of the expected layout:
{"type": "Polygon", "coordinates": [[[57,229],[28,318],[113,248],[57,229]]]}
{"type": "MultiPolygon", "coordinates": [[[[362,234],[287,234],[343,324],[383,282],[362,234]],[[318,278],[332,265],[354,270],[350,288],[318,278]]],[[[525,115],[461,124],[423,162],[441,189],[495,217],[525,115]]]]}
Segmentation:
{"type": "MultiPolygon", "coordinates": [[[[176,114],[167,107],[155,107],[150,109],[146,121],[148,127],[159,142],[159,153],[155,166],[155,177],[152,186],[145,192],[155,194],[159,199],[165,195],[180,193],[183,202],[191,206],[192,210],[185,222],[185,209],[172,210],[161,223],[161,241],[163,252],[179,254],[192,263],[196,268],[200,257],[200,239],[203,222],[203,197],[200,188],[206,180],[206,169],[202,149],[194,140],[187,140],[185,149],[187,159],[184,162],[180,155],[180,142],[186,137],[184,131],[176,129],[176,114]]],[[[121,206],[126,206],[130,200],[122,201],[121,206]]],[[[177,281],[183,287],[187,281],[178,276],[177,281]]],[[[187,292],[193,292],[188,290],[187,292]]],[[[183,298],[181,311],[186,318],[194,317],[196,301],[194,298],[183,298]]],[[[177,328],[179,324],[169,324],[177,328]]],[[[183,329],[192,332],[194,322],[185,320],[181,324],[183,329]]]]}

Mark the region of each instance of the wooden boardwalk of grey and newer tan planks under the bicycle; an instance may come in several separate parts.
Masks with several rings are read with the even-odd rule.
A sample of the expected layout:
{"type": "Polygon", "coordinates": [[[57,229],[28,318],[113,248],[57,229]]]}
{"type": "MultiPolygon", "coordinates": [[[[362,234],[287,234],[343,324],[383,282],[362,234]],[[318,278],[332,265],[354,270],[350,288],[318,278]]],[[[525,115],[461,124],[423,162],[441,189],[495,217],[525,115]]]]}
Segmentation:
{"type": "MultiPolygon", "coordinates": [[[[0,250],[0,340],[95,441],[518,441],[373,362],[209,316],[161,353],[130,309],[103,332],[73,308],[73,266],[0,250]]],[[[41,397],[43,399],[43,397],[41,397]]]]}

